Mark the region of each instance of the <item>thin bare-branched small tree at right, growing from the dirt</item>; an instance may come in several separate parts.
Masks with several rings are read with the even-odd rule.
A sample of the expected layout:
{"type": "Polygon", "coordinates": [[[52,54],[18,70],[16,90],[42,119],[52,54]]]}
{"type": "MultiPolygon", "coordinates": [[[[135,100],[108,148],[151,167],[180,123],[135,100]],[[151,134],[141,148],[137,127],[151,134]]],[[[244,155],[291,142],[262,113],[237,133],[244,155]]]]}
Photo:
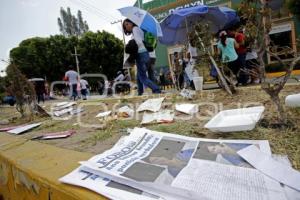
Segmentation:
{"type": "Polygon", "coordinates": [[[283,62],[282,59],[274,54],[271,49],[269,32],[271,31],[271,9],[268,0],[243,0],[240,6],[242,18],[246,21],[246,34],[252,41],[252,46],[258,53],[258,66],[261,79],[261,88],[270,96],[278,112],[278,122],[287,125],[287,115],[284,106],[279,98],[279,93],[291,76],[295,65],[300,61],[300,55],[294,53],[294,58],[290,62],[283,62]],[[266,79],[265,55],[269,54],[276,58],[277,62],[285,67],[285,74],[275,81],[266,79]]]}

